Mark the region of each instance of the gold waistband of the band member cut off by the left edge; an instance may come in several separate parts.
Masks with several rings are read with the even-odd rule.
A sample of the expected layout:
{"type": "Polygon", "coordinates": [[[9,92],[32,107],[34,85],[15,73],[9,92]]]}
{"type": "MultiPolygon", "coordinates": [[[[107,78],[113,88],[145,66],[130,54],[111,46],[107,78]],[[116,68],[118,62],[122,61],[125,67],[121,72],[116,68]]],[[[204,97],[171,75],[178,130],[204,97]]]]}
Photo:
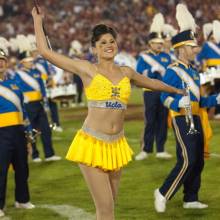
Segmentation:
{"type": "Polygon", "coordinates": [[[20,112],[8,112],[0,114],[0,127],[22,125],[23,117],[20,112]]]}

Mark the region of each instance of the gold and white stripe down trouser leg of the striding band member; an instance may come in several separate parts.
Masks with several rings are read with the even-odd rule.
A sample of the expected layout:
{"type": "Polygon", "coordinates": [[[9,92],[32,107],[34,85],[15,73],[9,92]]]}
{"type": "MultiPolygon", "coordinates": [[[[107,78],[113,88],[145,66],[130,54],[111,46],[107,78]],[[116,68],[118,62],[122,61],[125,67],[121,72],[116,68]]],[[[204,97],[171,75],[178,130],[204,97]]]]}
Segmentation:
{"type": "Polygon", "coordinates": [[[176,177],[176,179],[174,180],[173,184],[171,185],[170,189],[167,191],[167,193],[165,194],[165,198],[168,200],[172,193],[174,192],[174,190],[176,189],[178,183],[180,182],[180,179],[183,177],[183,175],[185,174],[188,164],[189,164],[189,160],[188,160],[188,156],[187,156],[187,151],[186,151],[186,146],[182,140],[182,137],[180,135],[180,131],[179,128],[176,124],[176,120],[175,118],[173,119],[173,126],[174,126],[174,131],[176,133],[177,139],[179,141],[180,147],[182,149],[182,156],[183,156],[183,167],[180,170],[178,176],[176,177]]]}

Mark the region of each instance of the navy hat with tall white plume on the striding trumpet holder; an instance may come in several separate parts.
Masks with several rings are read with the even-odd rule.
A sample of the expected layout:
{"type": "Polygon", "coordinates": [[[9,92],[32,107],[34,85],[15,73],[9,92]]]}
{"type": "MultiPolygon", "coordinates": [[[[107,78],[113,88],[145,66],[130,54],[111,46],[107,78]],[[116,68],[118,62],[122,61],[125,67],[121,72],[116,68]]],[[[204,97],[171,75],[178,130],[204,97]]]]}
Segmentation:
{"type": "Polygon", "coordinates": [[[180,27],[180,32],[172,38],[173,48],[183,45],[197,47],[198,43],[195,37],[196,23],[188,11],[186,5],[178,4],[176,7],[176,19],[180,27]]]}

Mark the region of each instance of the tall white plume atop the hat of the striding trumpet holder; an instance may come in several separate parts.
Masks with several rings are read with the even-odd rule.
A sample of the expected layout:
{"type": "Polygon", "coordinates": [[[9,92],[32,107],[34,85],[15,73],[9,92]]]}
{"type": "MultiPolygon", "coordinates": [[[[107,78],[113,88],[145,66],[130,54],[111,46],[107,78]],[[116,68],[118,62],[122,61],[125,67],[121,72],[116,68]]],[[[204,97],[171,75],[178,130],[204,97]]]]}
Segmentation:
{"type": "Polygon", "coordinates": [[[192,30],[194,33],[196,32],[197,25],[186,5],[178,4],[176,6],[176,19],[180,27],[180,32],[186,30],[192,30]]]}

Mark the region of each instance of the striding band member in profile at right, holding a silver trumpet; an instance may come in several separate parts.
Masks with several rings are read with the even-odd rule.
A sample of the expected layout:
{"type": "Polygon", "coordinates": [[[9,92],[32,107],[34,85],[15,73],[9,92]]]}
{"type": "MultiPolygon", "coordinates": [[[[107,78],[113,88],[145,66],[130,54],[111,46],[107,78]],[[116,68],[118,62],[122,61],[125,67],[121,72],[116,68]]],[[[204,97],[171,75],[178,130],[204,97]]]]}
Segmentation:
{"type": "Polygon", "coordinates": [[[220,95],[200,95],[199,74],[190,65],[195,59],[197,42],[194,37],[194,18],[183,4],[177,5],[176,18],[180,32],[172,38],[177,62],[170,65],[163,81],[176,88],[186,88],[187,95],[162,93],[161,99],[171,110],[173,129],[176,137],[177,163],[165,182],[154,192],[155,209],[165,212],[166,203],[184,186],[183,208],[204,209],[208,205],[199,201],[201,173],[204,166],[203,129],[199,108],[220,104],[220,95]]]}

